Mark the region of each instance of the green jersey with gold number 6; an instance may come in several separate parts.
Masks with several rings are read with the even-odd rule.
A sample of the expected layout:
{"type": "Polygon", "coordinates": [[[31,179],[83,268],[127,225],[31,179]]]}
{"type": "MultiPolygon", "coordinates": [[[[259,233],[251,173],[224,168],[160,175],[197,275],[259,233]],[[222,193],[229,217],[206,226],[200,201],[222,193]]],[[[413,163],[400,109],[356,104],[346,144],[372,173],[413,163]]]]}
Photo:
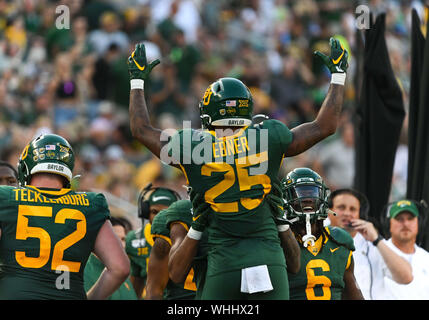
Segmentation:
{"type": "Polygon", "coordinates": [[[344,272],[355,250],[353,238],[341,228],[325,230],[335,241],[321,235],[314,246],[301,246],[301,269],[289,274],[291,300],[341,300],[344,272]]]}

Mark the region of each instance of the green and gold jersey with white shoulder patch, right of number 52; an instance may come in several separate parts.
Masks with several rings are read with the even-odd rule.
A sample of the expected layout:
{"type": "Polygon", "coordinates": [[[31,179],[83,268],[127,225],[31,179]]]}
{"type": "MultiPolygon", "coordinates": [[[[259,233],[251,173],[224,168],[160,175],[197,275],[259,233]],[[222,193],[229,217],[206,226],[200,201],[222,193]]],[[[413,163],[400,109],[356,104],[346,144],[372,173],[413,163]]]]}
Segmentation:
{"type": "MultiPolygon", "coordinates": [[[[146,285],[147,265],[153,238],[150,234],[151,224],[146,223],[143,228],[128,232],[125,238],[125,252],[130,258],[130,275],[144,279],[146,285]]],[[[143,298],[146,290],[143,292],[143,298]]]]}

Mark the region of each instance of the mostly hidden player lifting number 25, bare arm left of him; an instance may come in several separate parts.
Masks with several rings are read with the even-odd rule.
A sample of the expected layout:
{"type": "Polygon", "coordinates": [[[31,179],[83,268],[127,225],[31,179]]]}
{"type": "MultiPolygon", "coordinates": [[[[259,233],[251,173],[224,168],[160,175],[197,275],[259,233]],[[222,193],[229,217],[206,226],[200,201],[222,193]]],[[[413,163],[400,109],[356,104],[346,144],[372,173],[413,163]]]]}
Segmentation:
{"type": "Polygon", "coordinates": [[[168,274],[168,256],[172,245],[170,238],[171,221],[183,219],[191,212],[191,202],[189,200],[179,200],[174,202],[167,209],[156,215],[152,223],[152,237],[154,246],[149,259],[148,283],[153,282],[157,295],[152,298],[165,300],[194,299],[196,284],[194,282],[194,270],[189,270],[186,278],[179,283],[170,280],[168,274]],[[151,278],[156,279],[156,281],[151,278]]]}

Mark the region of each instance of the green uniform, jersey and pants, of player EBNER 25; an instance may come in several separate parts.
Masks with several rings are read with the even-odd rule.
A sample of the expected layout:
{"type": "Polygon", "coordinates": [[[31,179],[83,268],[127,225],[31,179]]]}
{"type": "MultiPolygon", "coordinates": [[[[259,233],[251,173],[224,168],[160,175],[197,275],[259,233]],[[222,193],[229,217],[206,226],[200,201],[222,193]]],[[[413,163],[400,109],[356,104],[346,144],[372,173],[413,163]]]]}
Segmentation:
{"type": "Polygon", "coordinates": [[[169,155],[211,205],[203,299],[249,298],[240,293],[240,270],[259,265],[268,266],[274,290],[252,298],[288,298],[286,262],[265,195],[273,183],[279,184],[278,171],[291,141],[292,133],[277,120],[223,138],[214,131],[192,129],[171,138],[169,155]],[[216,295],[219,284],[230,285],[223,291],[231,295],[216,295]]]}

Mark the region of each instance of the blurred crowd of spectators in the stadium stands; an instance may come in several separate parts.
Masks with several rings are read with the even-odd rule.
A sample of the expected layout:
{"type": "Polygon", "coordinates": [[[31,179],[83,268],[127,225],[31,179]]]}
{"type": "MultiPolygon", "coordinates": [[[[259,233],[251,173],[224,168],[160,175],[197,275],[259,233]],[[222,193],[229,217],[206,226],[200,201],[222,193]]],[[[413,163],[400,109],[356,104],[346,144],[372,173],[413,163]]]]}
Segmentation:
{"type": "MultiPolygon", "coordinates": [[[[79,189],[101,190],[112,215],[135,217],[138,193],[148,182],[186,193],[180,170],[163,165],[131,138],[127,57],[136,43],[145,42],[149,60],[161,60],[146,84],[148,107],[158,127],[179,129],[183,120],[199,127],[197,105],[204,90],[215,79],[232,76],[250,87],[255,114],[293,128],[314,118],[329,86],[330,74],[314,63],[313,52],[327,52],[329,37],[337,35],[353,59],[359,4],[1,0],[0,158],[16,165],[27,141],[38,133],[60,134],[75,149],[79,189]],[[70,10],[69,29],[56,26],[60,5],[70,10]]],[[[365,4],[372,13],[387,13],[386,41],[407,110],[411,9],[424,21],[424,3],[365,4]]],[[[284,172],[306,166],[333,189],[353,185],[354,74],[355,65],[350,64],[337,133],[285,161],[284,172]]],[[[405,119],[391,200],[406,192],[406,126],[405,119]]]]}

